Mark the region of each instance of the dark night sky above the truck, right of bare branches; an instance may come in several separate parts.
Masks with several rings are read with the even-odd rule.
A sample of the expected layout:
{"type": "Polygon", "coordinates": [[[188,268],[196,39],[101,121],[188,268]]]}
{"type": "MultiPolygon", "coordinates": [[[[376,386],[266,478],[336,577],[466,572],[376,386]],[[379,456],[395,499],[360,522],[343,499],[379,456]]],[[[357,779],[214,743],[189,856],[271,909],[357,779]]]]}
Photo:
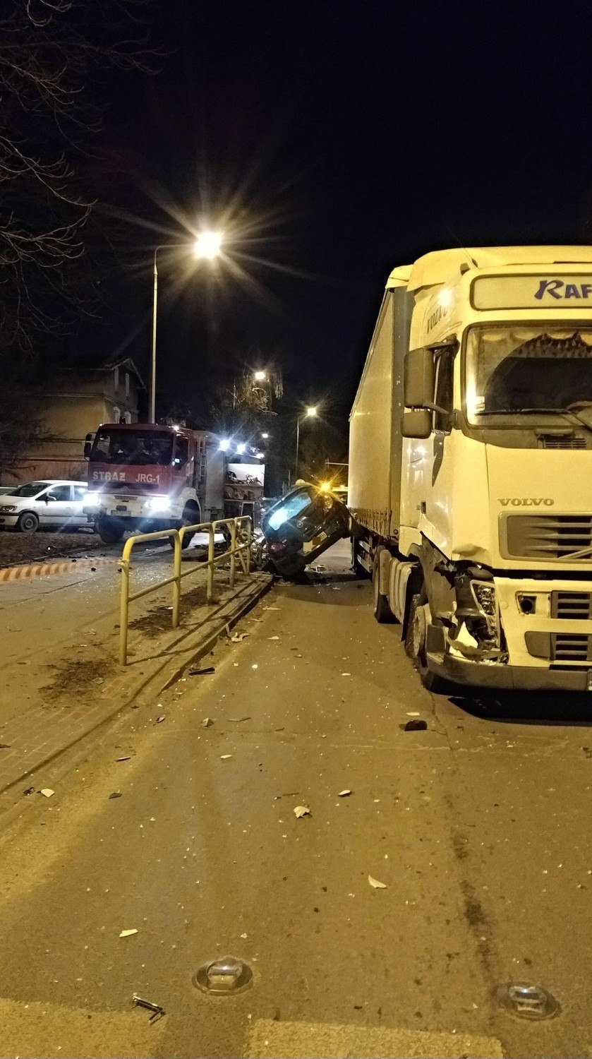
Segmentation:
{"type": "Polygon", "coordinates": [[[591,31],[570,2],[157,0],[161,71],[118,75],[107,120],[126,205],[156,226],[122,287],[145,327],[118,341],[149,345],[149,248],[221,216],[256,285],[163,263],[159,389],[199,406],[212,365],[273,357],[346,429],[392,267],[586,241],[591,31]]]}

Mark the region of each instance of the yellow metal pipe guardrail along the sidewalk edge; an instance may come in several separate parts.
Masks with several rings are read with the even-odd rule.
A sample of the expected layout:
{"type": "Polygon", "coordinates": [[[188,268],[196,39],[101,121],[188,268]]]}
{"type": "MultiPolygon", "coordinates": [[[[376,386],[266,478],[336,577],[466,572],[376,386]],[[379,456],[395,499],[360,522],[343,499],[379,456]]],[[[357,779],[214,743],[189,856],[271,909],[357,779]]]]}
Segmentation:
{"type": "Polygon", "coordinates": [[[230,587],[234,588],[236,577],[236,557],[240,561],[243,572],[249,574],[251,571],[251,541],[253,535],[253,524],[249,516],[241,516],[238,519],[218,519],[216,522],[199,522],[193,526],[182,526],[181,530],[161,530],[157,533],[142,533],[126,540],[120,559],[120,570],[122,572],[122,585],[120,594],[120,664],[127,665],[127,635],[129,625],[129,605],[134,599],[148,595],[150,592],[158,592],[159,589],[167,585],[173,586],[173,628],[179,625],[179,606],[181,602],[181,580],[197,570],[208,570],[208,603],[214,602],[214,571],[226,559],[230,558],[230,587]],[[226,552],[215,555],[216,533],[222,526],[228,526],[230,533],[230,548],[226,552]],[[182,570],[183,538],[186,534],[208,533],[208,560],[207,562],[196,562],[189,570],[182,570]],[[241,539],[244,535],[245,539],[241,539]],[[145,540],[167,540],[173,541],[173,575],[165,577],[156,585],[140,589],[139,592],[130,593],[131,574],[131,550],[136,544],[145,540]],[[245,554],[243,554],[245,553],[245,554]]]}

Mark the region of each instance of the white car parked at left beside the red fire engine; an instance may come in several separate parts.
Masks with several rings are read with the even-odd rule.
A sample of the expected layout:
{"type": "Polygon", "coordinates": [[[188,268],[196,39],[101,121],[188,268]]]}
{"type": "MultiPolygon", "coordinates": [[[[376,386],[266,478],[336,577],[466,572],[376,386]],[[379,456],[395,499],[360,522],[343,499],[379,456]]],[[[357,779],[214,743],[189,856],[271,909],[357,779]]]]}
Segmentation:
{"type": "Polygon", "coordinates": [[[83,513],[87,486],[62,479],[25,482],[0,496],[0,530],[35,533],[39,526],[54,530],[88,527],[83,513]]]}

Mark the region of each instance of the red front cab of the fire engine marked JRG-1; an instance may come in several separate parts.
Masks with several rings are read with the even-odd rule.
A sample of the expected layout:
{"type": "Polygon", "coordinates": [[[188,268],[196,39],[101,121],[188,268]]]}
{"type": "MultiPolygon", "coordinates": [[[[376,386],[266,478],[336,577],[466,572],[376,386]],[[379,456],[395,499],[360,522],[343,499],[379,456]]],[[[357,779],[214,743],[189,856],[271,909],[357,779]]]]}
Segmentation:
{"type": "MultiPolygon", "coordinates": [[[[116,544],[129,530],[180,530],[201,521],[204,431],[108,423],[92,443],[90,437],[85,511],[102,540],[116,544]]],[[[184,543],[190,539],[186,535],[184,543]]]]}

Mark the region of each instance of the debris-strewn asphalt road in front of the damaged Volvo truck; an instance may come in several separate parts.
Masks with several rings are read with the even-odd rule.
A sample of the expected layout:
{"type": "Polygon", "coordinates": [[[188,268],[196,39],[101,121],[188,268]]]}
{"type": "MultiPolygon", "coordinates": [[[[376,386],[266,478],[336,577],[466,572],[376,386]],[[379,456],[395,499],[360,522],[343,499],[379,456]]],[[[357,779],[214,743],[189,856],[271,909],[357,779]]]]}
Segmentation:
{"type": "Polygon", "coordinates": [[[592,706],[428,695],[345,549],[323,558],[215,674],[23,798],[0,838],[2,1056],[590,1055],[592,706]],[[203,994],[228,954],[252,988],[203,994]],[[556,1017],[501,1007],[517,981],[556,1017]]]}

